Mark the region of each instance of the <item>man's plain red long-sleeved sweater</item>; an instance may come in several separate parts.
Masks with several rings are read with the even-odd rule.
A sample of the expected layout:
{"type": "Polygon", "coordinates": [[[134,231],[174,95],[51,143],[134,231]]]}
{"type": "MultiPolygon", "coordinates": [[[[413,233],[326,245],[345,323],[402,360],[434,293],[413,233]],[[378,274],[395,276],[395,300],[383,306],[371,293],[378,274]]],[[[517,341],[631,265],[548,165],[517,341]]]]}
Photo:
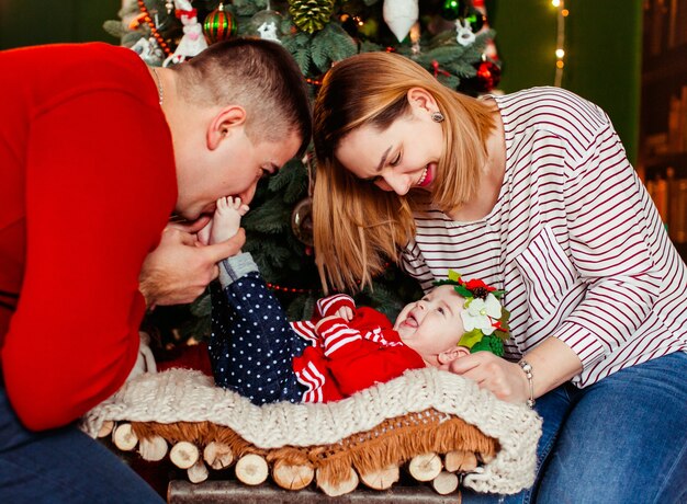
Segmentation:
{"type": "Polygon", "coordinates": [[[173,150],[129,49],[13,49],[0,68],[0,363],[19,417],[44,429],[133,367],[140,265],[177,198],[173,150]]]}

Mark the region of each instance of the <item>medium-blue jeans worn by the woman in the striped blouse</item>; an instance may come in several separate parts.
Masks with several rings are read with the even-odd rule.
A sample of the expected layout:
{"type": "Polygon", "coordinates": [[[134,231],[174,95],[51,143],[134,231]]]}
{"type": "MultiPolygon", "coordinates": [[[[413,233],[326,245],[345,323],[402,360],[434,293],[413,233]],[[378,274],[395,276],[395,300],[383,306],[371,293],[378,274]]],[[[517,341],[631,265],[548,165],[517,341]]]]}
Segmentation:
{"type": "Polygon", "coordinates": [[[543,417],[533,489],[463,503],[687,502],[687,354],[618,371],[585,389],[537,400],[543,417]]]}

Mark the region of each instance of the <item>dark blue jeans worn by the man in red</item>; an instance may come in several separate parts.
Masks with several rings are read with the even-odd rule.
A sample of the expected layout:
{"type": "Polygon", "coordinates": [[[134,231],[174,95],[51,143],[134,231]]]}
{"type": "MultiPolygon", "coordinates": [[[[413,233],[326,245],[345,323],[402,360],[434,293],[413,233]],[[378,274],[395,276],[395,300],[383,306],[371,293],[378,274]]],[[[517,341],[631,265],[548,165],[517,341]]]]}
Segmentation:
{"type": "Polygon", "coordinates": [[[23,427],[0,382],[0,502],[162,503],[114,454],[75,425],[23,427]]]}

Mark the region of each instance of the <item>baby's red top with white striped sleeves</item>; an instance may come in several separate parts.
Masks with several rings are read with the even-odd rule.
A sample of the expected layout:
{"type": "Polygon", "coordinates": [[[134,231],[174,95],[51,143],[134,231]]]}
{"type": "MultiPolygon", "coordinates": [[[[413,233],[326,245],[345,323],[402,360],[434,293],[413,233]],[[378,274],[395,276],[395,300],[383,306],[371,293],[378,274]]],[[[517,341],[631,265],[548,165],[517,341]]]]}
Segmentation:
{"type": "Polygon", "coordinates": [[[305,402],[336,401],[425,367],[388,319],[371,308],[358,308],[348,323],[344,319],[323,322],[318,332],[320,343],[293,359],[299,380],[309,387],[305,402]],[[312,378],[314,371],[317,378],[312,378]]]}

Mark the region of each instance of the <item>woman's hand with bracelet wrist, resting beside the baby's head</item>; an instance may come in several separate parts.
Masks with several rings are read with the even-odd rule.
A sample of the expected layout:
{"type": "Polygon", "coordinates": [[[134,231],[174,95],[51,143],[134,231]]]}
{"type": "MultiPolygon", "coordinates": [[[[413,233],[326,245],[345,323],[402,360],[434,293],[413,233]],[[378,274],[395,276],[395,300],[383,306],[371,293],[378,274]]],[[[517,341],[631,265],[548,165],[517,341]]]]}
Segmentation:
{"type": "Polygon", "coordinates": [[[476,352],[440,367],[476,381],[480,388],[508,402],[526,402],[529,383],[517,363],[509,363],[489,352],[476,352]]]}

